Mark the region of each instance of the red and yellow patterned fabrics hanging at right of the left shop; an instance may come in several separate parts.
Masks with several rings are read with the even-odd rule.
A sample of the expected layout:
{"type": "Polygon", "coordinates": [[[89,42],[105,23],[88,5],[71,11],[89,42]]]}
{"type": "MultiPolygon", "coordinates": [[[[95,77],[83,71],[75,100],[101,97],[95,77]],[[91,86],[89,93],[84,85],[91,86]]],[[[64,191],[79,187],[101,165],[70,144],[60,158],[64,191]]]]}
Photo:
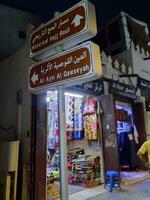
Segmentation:
{"type": "Polygon", "coordinates": [[[83,107],[84,134],[87,140],[98,139],[98,122],[96,114],[96,100],[86,99],[83,107]]]}

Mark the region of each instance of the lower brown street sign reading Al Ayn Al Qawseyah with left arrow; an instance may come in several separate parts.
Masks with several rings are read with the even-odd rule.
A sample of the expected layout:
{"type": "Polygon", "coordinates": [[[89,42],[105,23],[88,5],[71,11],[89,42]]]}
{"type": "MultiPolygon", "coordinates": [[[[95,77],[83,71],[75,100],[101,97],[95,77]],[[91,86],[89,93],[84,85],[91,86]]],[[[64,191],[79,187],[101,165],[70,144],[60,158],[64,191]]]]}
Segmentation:
{"type": "Polygon", "coordinates": [[[94,80],[102,74],[99,46],[85,42],[29,68],[30,91],[64,87],[94,80]]]}

